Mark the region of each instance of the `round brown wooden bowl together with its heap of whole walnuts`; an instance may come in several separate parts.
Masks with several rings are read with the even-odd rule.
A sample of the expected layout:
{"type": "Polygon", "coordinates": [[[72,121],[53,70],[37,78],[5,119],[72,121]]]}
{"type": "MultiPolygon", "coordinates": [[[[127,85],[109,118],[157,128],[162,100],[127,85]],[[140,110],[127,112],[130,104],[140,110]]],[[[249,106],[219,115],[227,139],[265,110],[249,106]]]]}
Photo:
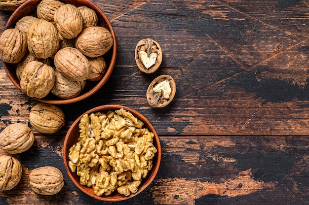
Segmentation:
{"type": "Polygon", "coordinates": [[[7,21],[0,58],[13,84],[51,104],[78,102],[97,92],[116,62],[116,37],[90,0],[27,0],[7,21]]]}

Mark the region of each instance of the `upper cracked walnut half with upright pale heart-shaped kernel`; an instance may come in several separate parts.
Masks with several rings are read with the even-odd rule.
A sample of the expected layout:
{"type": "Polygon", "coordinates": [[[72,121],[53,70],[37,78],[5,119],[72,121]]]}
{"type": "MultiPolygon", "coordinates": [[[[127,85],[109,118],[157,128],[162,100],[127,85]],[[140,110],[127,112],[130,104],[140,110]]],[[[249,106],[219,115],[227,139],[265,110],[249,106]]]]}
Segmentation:
{"type": "Polygon", "coordinates": [[[145,73],[153,73],[162,63],[162,49],[151,38],[140,40],[135,47],[137,67],[145,73]]]}

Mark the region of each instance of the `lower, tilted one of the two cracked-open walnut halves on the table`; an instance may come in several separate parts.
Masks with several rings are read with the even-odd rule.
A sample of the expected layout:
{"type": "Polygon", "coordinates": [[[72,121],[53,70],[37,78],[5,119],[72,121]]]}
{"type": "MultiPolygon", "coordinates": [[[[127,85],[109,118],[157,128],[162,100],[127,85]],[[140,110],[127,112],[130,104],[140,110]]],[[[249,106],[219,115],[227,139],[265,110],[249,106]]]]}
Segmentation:
{"type": "Polygon", "coordinates": [[[149,85],[146,97],[149,105],[153,107],[164,107],[173,100],[175,94],[176,83],[172,76],[160,75],[149,85]]]}

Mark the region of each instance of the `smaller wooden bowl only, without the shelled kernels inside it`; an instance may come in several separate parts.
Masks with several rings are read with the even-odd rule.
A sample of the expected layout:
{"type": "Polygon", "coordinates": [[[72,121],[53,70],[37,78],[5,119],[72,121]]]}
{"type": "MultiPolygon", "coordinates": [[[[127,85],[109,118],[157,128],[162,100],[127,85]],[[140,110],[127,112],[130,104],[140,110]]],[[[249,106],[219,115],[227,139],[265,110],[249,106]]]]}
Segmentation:
{"type": "Polygon", "coordinates": [[[71,178],[71,180],[74,182],[74,184],[77,186],[78,189],[80,189],[82,192],[84,192],[85,194],[89,195],[90,197],[93,197],[95,199],[101,200],[101,201],[108,201],[108,202],[118,202],[118,201],[122,201],[122,200],[126,200],[126,199],[130,199],[136,195],[138,195],[139,193],[141,193],[144,189],[146,189],[147,186],[149,186],[151,184],[151,182],[154,180],[154,177],[159,169],[160,166],[160,161],[161,161],[161,145],[160,145],[160,140],[158,138],[157,133],[154,130],[153,125],[148,121],[148,119],[146,117],[144,117],[141,113],[139,113],[138,111],[127,107],[127,106],[123,106],[123,105],[101,105],[95,108],[92,108],[88,111],[86,111],[85,113],[83,113],[82,115],[80,115],[75,121],[74,123],[71,125],[65,140],[64,140],[64,145],[63,145],[63,161],[64,161],[64,166],[65,169],[69,175],[69,177],[71,178]],[[91,113],[94,112],[108,112],[109,110],[117,110],[123,108],[129,112],[131,112],[135,117],[137,117],[139,120],[141,120],[144,123],[144,128],[148,128],[148,130],[150,132],[154,133],[154,146],[157,149],[157,152],[155,153],[155,156],[153,158],[153,168],[151,171],[149,171],[148,175],[146,178],[142,179],[142,183],[138,188],[138,191],[134,194],[130,194],[129,196],[124,196],[121,195],[119,193],[117,193],[116,191],[113,192],[111,195],[109,196],[97,196],[92,187],[87,187],[84,185],[81,185],[79,182],[79,176],[77,176],[76,172],[72,172],[70,167],[68,166],[69,163],[69,150],[70,148],[77,143],[77,138],[79,137],[79,127],[78,124],[80,122],[80,119],[82,118],[82,116],[86,113],[88,113],[89,115],[91,113]]]}

